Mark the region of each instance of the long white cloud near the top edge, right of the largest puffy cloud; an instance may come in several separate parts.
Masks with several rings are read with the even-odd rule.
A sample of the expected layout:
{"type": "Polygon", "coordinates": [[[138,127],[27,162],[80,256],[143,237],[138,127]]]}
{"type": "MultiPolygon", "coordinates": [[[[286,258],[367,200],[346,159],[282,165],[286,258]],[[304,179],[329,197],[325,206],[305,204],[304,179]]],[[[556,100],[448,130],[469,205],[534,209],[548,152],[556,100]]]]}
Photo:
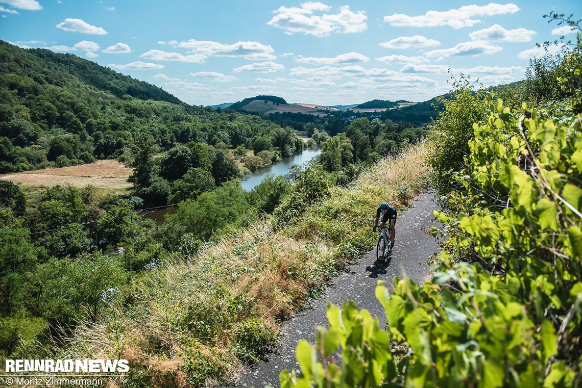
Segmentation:
{"type": "Polygon", "coordinates": [[[519,11],[519,7],[513,3],[507,3],[505,5],[489,3],[483,6],[465,5],[461,8],[449,9],[444,12],[430,10],[425,15],[420,16],[395,13],[391,16],[385,16],[384,21],[396,27],[450,26],[453,28],[462,28],[481,23],[479,19],[471,19],[474,16],[505,15],[506,13],[515,13],[517,11],[519,11]]]}

